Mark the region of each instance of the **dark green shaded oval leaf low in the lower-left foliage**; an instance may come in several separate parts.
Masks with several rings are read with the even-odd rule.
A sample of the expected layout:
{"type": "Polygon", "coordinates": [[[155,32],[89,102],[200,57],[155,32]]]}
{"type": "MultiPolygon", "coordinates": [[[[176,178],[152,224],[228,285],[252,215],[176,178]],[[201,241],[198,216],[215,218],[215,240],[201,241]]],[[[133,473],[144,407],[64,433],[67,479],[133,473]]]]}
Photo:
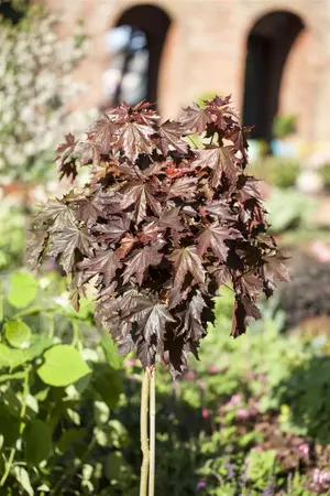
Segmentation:
{"type": "Polygon", "coordinates": [[[52,431],[40,419],[33,420],[24,430],[25,460],[32,465],[38,465],[52,453],[52,431]]]}

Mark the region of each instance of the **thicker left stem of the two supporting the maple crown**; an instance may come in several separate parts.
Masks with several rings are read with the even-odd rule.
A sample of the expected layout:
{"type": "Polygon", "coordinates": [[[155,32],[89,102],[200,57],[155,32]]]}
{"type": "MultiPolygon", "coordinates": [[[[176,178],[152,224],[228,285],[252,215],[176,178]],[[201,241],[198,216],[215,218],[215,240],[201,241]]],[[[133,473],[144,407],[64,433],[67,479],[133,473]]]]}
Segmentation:
{"type": "Polygon", "coordinates": [[[148,400],[150,371],[143,373],[141,387],[141,411],[140,411],[140,435],[142,465],[140,478],[140,496],[147,496],[147,475],[148,475],[148,440],[147,440],[147,400],[148,400]]]}

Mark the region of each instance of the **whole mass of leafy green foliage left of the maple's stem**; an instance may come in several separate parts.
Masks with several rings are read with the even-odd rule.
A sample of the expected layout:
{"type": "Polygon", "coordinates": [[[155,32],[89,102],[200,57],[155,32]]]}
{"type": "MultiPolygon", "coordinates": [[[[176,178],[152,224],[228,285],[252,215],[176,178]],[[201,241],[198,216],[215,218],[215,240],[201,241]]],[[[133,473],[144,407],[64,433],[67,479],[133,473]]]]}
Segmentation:
{"type": "Polygon", "coordinates": [[[129,438],[111,416],[122,393],[116,348],[87,302],[74,312],[54,290],[52,274],[2,279],[0,494],[129,495],[129,438]]]}

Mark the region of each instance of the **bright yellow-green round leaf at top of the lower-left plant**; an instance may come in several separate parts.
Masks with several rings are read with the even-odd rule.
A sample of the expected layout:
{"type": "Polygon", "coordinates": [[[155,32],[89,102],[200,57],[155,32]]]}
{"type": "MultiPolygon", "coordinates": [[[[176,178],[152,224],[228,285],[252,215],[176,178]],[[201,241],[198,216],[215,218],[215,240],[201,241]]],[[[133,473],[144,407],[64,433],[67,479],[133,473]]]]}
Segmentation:
{"type": "Polygon", "coordinates": [[[8,294],[9,303],[15,309],[28,306],[35,299],[37,282],[28,272],[14,272],[10,278],[11,291],[8,294]]]}

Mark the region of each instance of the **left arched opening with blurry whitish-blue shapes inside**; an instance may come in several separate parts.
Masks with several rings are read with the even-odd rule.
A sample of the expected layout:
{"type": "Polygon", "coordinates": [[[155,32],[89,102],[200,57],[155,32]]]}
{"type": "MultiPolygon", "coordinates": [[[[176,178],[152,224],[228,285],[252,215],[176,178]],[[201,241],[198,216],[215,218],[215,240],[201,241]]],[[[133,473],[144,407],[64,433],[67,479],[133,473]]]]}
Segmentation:
{"type": "Polygon", "coordinates": [[[142,99],[157,101],[158,73],[170,19],[162,9],[135,6],[119,18],[107,33],[111,55],[105,73],[107,99],[135,105],[142,99]]]}

